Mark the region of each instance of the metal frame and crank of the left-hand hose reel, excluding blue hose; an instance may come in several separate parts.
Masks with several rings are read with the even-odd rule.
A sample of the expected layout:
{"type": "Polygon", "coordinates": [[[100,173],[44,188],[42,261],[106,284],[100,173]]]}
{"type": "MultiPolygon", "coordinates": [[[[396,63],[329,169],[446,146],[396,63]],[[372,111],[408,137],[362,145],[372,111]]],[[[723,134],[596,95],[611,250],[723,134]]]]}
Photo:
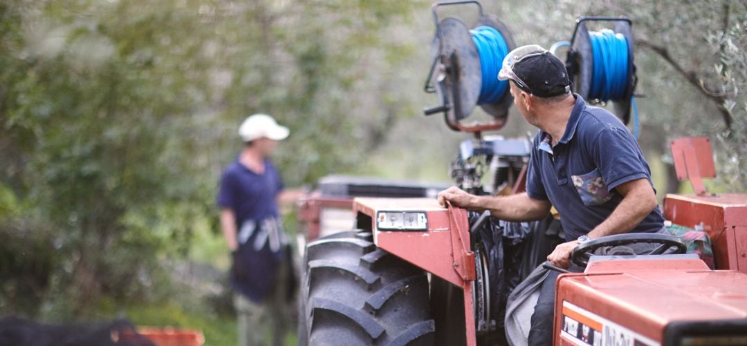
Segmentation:
{"type": "MultiPolygon", "coordinates": [[[[480,55],[472,40],[470,29],[460,19],[447,17],[438,19],[438,7],[475,4],[479,19],[477,26],[495,28],[503,36],[509,51],[516,47],[513,35],[498,17],[483,13],[483,7],[478,1],[446,1],[433,4],[433,21],[436,24],[436,37],[431,45],[433,63],[425,81],[426,92],[436,92],[441,105],[427,108],[427,116],[444,113],[444,119],[449,128],[456,131],[479,133],[486,130],[499,130],[506,124],[509,107],[513,102],[510,92],[506,92],[500,100],[490,104],[480,104],[480,107],[491,116],[488,123],[462,124],[474,107],[480,96],[482,85],[482,70],[480,55]]],[[[496,76],[495,78],[498,78],[496,76]]]]}

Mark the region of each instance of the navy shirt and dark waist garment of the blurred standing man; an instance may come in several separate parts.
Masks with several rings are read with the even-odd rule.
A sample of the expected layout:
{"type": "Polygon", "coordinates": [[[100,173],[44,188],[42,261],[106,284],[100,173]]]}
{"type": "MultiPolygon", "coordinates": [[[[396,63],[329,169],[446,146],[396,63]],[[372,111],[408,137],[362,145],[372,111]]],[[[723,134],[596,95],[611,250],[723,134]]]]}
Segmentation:
{"type": "MultiPolygon", "coordinates": [[[[284,257],[285,235],[279,226],[276,198],[283,183],[275,166],[264,160],[264,173],[257,174],[238,160],[220,178],[218,207],[236,216],[241,277],[232,273],[234,289],[255,302],[273,289],[278,263],[284,257]]],[[[237,263],[234,263],[237,265],[237,263]]]]}

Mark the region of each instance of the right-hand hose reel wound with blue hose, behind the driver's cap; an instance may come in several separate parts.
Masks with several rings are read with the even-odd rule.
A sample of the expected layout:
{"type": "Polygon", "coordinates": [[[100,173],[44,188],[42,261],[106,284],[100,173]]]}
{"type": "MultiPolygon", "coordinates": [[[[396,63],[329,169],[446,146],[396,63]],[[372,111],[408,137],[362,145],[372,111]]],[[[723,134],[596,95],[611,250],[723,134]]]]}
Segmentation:
{"type": "MultiPolygon", "coordinates": [[[[635,107],[636,66],[633,62],[633,30],[630,19],[622,17],[579,17],[569,45],[565,67],[574,92],[586,101],[606,104],[612,101],[613,113],[627,125],[631,105],[635,107]],[[589,31],[588,22],[615,22],[612,30],[589,31]]],[[[636,117],[637,127],[637,117],[636,117]]],[[[635,131],[637,132],[637,130],[635,131]]]]}

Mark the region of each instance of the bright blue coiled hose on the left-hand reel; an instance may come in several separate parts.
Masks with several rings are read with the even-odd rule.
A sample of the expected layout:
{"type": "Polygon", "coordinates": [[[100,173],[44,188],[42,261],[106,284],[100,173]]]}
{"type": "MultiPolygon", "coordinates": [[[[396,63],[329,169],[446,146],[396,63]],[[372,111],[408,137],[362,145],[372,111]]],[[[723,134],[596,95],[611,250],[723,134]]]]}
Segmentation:
{"type": "Polygon", "coordinates": [[[477,53],[480,54],[483,84],[477,104],[491,104],[503,98],[509,88],[508,81],[499,81],[498,72],[503,57],[509,54],[509,46],[503,35],[489,26],[479,26],[470,31],[477,53]]]}

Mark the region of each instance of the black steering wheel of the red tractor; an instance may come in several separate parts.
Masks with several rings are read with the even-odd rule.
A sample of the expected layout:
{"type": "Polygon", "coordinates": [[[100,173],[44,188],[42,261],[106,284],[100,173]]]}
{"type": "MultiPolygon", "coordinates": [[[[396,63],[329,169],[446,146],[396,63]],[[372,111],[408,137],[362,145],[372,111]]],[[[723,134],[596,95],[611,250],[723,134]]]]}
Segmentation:
{"type": "Polygon", "coordinates": [[[670,236],[669,234],[662,233],[625,233],[616,234],[614,236],[603,236],[598,239],[592,239],[588,242],[584,242],[573,249],[571,255],[571,261],[576,265],[586,267],[589,264],[589,258],[592,257],[594,251],[598,248],[604,248],[606,246],[620,246],[630,244],[660,244],[654,251],[651,251],[651,255],[662,255],[662,254],[684,254],[687,251],[687,245],[682,239],[676,236],[670,236]],[[672,251],[668,251],[669,248],[674,247],[672,251]]]}

